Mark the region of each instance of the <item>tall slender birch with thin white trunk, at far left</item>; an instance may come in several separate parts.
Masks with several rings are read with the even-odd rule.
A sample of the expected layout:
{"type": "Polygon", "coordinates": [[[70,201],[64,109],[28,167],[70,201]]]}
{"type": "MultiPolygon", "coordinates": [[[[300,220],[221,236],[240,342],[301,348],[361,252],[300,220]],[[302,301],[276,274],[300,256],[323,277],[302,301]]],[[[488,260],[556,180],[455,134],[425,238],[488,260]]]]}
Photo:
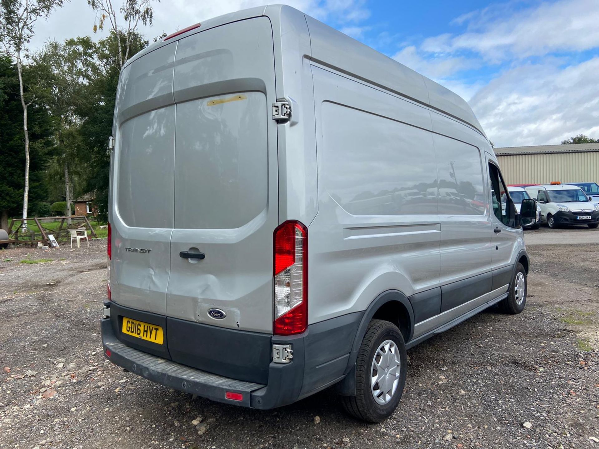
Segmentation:
{"type": "Polygon", "coordinates": [[[0,0],[0,41],[4,51],[17,63],[19,96],[23,108],[23,134],[25,136],[25,185],[23,188],[23,232],[27,232],[29,202],[29,129],[27,109],[35,98],[25,99],[23,88],[23,58],[28,56],[28,45],[34,36],[35,22],[45,19],[63,0],[0,0]]]}

